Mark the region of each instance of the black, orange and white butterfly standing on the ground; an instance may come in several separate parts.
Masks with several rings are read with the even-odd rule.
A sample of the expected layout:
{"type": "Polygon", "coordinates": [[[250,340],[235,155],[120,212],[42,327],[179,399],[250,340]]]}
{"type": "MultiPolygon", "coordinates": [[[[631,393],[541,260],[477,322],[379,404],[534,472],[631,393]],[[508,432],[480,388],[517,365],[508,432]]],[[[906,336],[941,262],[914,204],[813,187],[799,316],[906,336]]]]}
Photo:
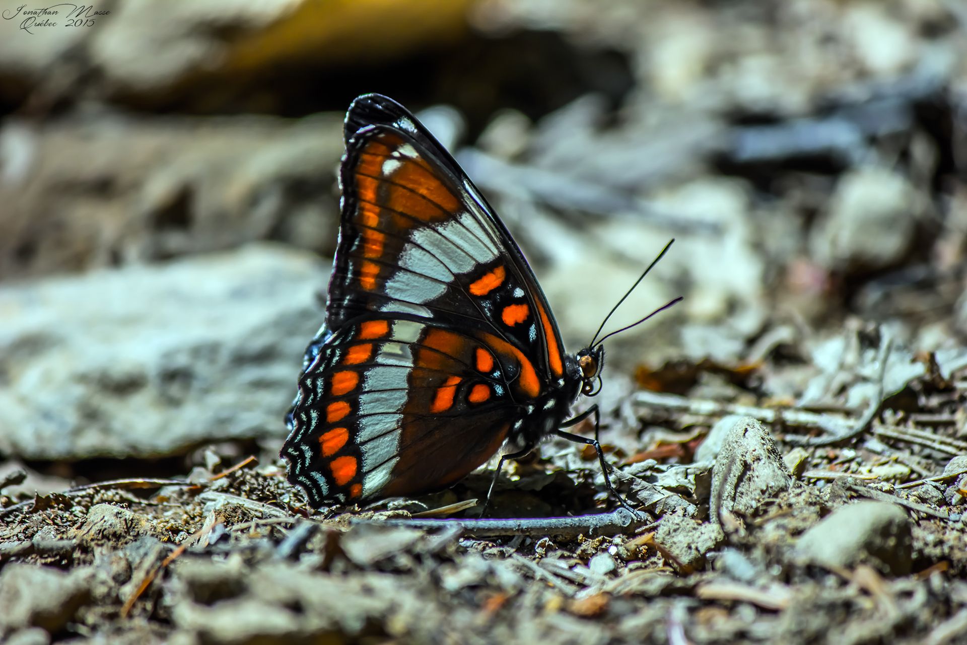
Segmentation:
{"type": "Polygon", "coordinates": [[[511,233],[405,107],[361,96],[344,136],[325,323],[286,416],[288,481],[314,508],[414,495],[508,444],[517,450],[496,482],[507,459],[557,435],[594,446],[627,507],[607,476],[597,405],[569,418],[578,395],[600,390],[600,342],[565,352],[511,233]],[[562,429],[591,415],[595,439],[562,429]]]}

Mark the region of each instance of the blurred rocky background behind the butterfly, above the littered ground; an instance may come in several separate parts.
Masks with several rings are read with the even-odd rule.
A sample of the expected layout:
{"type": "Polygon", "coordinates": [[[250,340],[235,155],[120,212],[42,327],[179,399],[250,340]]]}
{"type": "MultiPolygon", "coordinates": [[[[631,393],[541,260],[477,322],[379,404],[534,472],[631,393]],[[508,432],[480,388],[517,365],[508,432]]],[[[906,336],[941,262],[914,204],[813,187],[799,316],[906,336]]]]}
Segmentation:
{"type": "Polygon", "coordinates": [[[70,28],[21,4],[0,474],[31,491],[278,451],[365,92],[454,152],[571,351],[677,240],[609,329],[685,301],[609,341],[605,400],[797,400],[809,348],[870,323],[963,359],[961,0],[105,0],[70,28]]]}

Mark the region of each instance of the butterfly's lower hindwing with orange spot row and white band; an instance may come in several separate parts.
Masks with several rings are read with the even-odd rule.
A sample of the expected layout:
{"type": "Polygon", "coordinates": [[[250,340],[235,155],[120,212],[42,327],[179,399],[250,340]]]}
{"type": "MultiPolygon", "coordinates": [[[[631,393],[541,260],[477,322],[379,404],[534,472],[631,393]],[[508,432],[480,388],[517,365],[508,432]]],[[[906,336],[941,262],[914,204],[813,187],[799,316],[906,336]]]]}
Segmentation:
{"type": "Polygon", "coordinates": [[[343,327],[300,379],[282,450],[290,479],[315,506],[453,484],[507,437],[501,369],[483,342],[452,330],[386,319],[343,327]]]}

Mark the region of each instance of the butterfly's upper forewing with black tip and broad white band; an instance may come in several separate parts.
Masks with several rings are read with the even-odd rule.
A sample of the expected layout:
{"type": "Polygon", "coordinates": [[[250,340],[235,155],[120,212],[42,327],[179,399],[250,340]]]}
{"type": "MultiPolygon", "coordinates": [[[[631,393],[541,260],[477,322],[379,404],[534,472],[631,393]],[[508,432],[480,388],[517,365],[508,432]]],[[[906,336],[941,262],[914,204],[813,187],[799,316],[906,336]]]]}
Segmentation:
{"type": "Polygon", "coordinates": [[[453,157],[386,97],[357,99],[346,135],[329,327],[373,310],[488,324],[560,378],[563,345],[541,287],[453,157]]]}

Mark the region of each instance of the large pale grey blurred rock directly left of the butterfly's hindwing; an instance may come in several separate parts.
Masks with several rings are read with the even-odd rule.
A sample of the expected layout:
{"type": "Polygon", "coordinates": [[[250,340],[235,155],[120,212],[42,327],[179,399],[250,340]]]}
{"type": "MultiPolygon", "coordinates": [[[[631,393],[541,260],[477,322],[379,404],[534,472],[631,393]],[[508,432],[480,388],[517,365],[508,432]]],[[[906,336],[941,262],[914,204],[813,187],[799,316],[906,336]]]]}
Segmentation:
{"type": "Polygon", "coordinates": [[[308,254],[253,246],[0,287],[0,453],[281,437],[325,279],[308,254]]]}

